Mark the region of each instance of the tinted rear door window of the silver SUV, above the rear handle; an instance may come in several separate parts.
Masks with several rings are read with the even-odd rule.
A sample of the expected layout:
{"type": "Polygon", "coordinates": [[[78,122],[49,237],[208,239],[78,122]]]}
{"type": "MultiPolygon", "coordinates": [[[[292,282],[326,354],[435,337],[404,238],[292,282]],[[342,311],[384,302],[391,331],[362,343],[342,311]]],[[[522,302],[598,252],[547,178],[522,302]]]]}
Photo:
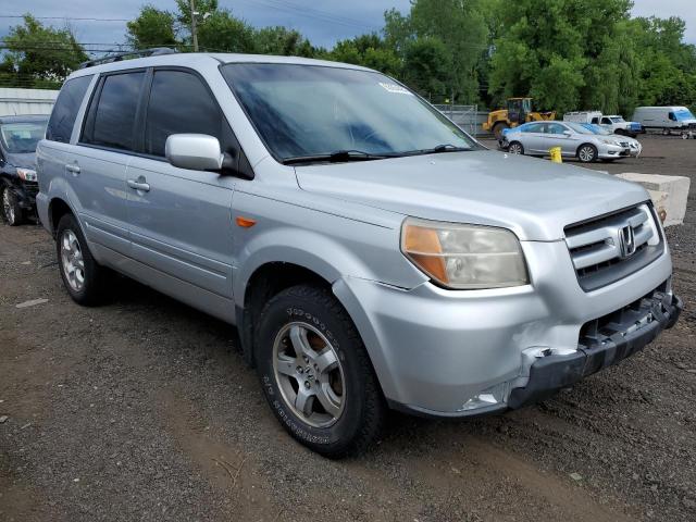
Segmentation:
{"type": "Polygon", "coordinates": [[[83,141],[122,150],[136,149],[136,114],[145,71],[111,74],[92,100],[83,141]]]}

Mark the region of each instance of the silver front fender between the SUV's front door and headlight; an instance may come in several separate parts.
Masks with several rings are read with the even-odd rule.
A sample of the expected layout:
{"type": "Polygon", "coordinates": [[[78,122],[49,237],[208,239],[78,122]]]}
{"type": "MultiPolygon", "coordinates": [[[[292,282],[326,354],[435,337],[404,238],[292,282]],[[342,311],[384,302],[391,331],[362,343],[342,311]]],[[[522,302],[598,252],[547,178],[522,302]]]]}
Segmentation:
{"type": "Polygon", "coordinates": [[[235,192],[233,204],[256,221],[235,229],[233,293],[238,306],[244,306],[253,273],[272,262],[297,264],[328,283],[350,276],[412,288],[427,279],[399,250],[400,228],[241,191],[235,192]]]}

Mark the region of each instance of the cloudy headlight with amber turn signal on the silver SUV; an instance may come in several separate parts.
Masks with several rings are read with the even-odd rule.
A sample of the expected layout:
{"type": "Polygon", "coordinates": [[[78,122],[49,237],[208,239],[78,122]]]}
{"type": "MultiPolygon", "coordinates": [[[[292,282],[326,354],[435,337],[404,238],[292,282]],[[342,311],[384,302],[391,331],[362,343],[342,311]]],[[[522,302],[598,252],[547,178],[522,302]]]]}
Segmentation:
{"type": "Polygon", "coordinates": [[[529,283],[517,236],[505,228],[408,217],[401,251],[443,286],[482,289],[529,283]]]}

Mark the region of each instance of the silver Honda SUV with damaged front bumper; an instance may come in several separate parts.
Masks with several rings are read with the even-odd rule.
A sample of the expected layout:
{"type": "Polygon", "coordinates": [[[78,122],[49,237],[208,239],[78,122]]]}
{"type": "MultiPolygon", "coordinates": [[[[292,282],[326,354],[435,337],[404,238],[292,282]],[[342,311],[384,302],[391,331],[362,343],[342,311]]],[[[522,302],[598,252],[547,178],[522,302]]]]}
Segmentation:
{"type": "Polygon", "coordinates": [[[487,150],[403,85],[167,54],[65,82],[38,148],[72,298],[115,270],[236,324],[271,409],[331,457],[388,408],[520,408],[631,356],[681,301],[647,192],[487,150]]]}

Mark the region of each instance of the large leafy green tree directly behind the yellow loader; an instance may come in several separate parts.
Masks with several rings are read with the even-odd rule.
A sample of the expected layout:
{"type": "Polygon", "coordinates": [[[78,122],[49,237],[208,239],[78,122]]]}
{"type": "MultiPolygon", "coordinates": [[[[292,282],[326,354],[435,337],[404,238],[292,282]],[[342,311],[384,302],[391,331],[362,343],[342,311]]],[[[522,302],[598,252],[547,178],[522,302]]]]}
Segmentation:
{"type": "Polygon", "coordinates": [[[626,95],[634,98],[639,66],[622,26],[630,9],[630,0],[499,3],[489,94],[498,102],[531,95],[538,107],[560,112],[616,112],[626,95]]]}

